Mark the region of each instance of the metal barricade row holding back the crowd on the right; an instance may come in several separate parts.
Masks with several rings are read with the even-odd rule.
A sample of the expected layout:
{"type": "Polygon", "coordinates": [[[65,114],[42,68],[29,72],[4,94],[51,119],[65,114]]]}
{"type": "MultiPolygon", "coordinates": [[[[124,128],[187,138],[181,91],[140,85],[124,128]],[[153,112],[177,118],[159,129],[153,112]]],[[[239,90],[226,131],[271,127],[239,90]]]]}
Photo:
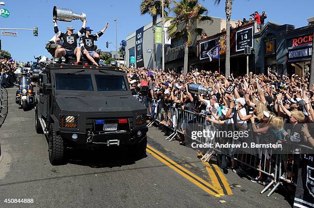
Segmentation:
{"type": "MultiPolygon", "coordinates": [[[[192,131],[203,131],[209,128],[211,131],[220,130],[224,128],[225,125],[221,124],[207,124],[205,115],[201,113],[195,113],[187,110],[183,110],[181,108],[175,108],[169,104],[161,103],[154,100],[148,100],[147,105],[147,115],[152,119],[152,122],[148,124],[151,126],[153,123],[163,124],[170,128],[173,133],[166,138],[166,140],[172,141],[174,137],[178,134],[186,135],[190,134],[192,131]],[[189,125],[192,124],[192,125],[189,125]],[[189,129],[191,128],[191,129],[189,129]]],[[[241,139],[234,140],[232,138],[232,144],[246,142],[246,143],[258,143],[258,144],[266,144],[265,141],[272,141],[273,139],[268,135],[261,135],[253,133],[251,125],[247,125],[246,129],[250,136],[247,141],[243,141],[241,139]]],[[[239,127],[237,125],[232,124],[230,127],[231,131],[238,131],[239,127]]],[[[189,135],[190,136],[190,135],[189,135]]],[[[197,141],[201,144],[205,143],[221,143],[221,142],[230,142],[229,140],[225,140],[224,137],[214,137],[211,141],[210,138],[201,137],[198,138],[197,141]]],[[[288,144],[290,145],[290,144],[288,144]]],[[[295,144],[296,145],[296,144],[295,144]]],[[[302,145],[297,145],[302,146],[302,145]]],[[[304,149],[312,149],[307,146],[302,146],[304,149]]],[[[270,192],[267,194],[269,197],[280,185],[283,185],[283,182],[286,181],[287,178],[281,179],[282,173],[289,172],[291,184],[296,186],[297,175],[298,175],[298,165],[299,160],[293,154],[279,154],[280,150],[272,150],[272,149],[263,149],[257,148],[254,150],[244,150],[244,149],[221,149],[221,148],[208,148],[206,154],[204,154],[203,158],[206,155],[212,155],[214,152],[218,154],[225,155],[235,162],[239,162],[239,164],[243,164],[244,166],[256,170],[262,174],[265,174],[268,178],[271,178],[271,181],[264,187],[264,189],[260,192],[263,194],[268,189],[270,192]],[[283,164],[285,164],[283,166],[283,164]],[[290,168],[290,170],[289,170],[290,168]],[[283,170],[284,169],[284,170],[283,170]]],[[[300,155],[299,152],[298,155],[300,155]]],[[[202,158],[202,159],[203,159],[202,158]]],[[[282,186],[284,188],[284,186],[282,186]]],[[[287,191],[288,192],[288,191],[287,191]]]]}

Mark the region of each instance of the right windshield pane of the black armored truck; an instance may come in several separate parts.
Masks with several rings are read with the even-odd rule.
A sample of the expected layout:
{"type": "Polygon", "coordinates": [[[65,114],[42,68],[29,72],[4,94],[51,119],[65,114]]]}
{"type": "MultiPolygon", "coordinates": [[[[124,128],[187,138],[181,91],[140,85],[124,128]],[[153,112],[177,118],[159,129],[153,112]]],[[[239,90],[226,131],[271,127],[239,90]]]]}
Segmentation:
{"type": "Polygon", "coordinates": [[[98,91],[128,90],[123,76],[95,75],[98,91]]]}

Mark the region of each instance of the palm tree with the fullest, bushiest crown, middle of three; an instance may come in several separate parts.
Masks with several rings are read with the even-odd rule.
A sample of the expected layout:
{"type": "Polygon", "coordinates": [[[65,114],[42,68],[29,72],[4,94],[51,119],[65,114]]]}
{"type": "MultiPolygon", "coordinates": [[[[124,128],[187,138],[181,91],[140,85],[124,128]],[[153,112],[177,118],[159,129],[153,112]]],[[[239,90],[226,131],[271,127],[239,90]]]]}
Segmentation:
{"type": "Polygon", "coordinates": [[[167,33],[170,37],[184,37],[184,75],[188,72],[188,54],[189,47],[192,42],[192,33],[201,35],[203,29],[196,28],[191,29],[191,25],[194,22],[211,21],[211,17],[207,16],[207,9],[203,7],[198,0],[180,0],[174,1],[174,8],[171,10],[174,13],[174,17],[167,17],[166,21],[170,21],[170,25],[167,29],[167,33]]]}

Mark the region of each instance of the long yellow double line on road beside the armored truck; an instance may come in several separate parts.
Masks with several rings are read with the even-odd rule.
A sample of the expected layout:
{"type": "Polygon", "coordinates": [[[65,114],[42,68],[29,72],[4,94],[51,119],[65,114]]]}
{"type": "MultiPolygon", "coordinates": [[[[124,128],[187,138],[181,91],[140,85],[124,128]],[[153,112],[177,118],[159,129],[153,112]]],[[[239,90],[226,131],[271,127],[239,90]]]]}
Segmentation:
{"type": "Polygon", "coordinates": [[[191,173],[187,169],[183,168],[182,166],[175,163],[175,161],[171,160],[161,152],[155,150],[154,148],[147,145],[147,152],[150,153],[152,156],[154,156],[156,159],[160,160],[162,163],[164,163],[169,168],[173,169],[175,172],[179,173],[189,181],[191,181],[193,184],[204,190],[210,195],[213,195],[215,197],[223,196],[224,194],[217,190],[215,187],[213,187],[210,183],[206,182],[199,176],[191,173]]]}

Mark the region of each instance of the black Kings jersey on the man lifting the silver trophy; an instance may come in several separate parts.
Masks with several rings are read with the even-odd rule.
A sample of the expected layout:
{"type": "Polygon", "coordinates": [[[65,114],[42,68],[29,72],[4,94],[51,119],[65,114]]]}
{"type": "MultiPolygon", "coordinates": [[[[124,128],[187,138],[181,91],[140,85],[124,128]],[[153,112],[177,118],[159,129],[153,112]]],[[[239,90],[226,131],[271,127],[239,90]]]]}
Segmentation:
{"type": "Polygon", "coordinates": [[[54,27],[54,32],[57,37],[60,37],[60,39],[63,41],[62,47],[66,50],[73,51],[77,47],[77,38],[81,37],[84,33],[85,28],[81,28],[80,31],[77,33],[73,33],[72,35],[68,35],[67,33],[62,33],[59,31],[58,27],[54,27]]]}

